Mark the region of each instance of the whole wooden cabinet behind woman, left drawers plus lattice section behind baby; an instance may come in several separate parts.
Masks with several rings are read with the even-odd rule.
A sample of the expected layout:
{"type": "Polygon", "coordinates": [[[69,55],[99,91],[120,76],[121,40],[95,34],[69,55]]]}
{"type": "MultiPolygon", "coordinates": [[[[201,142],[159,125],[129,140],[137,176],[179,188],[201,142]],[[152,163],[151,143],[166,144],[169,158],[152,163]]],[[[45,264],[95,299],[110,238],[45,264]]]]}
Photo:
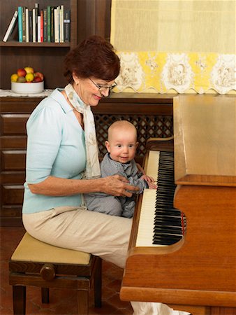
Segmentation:
{"type": "MultiPolygon", "coordinates": [[[[25,181],[26,123],[40,97],[0,98],[0,221],[1,226],[22,225],[25,181]]],[[[101,157],[112,122],[130,120],[138,129],[137,162],[142,163],[149,137],[172,135],[172,96],[160,94],[112,93],[93,108],[101,157]]]]}

